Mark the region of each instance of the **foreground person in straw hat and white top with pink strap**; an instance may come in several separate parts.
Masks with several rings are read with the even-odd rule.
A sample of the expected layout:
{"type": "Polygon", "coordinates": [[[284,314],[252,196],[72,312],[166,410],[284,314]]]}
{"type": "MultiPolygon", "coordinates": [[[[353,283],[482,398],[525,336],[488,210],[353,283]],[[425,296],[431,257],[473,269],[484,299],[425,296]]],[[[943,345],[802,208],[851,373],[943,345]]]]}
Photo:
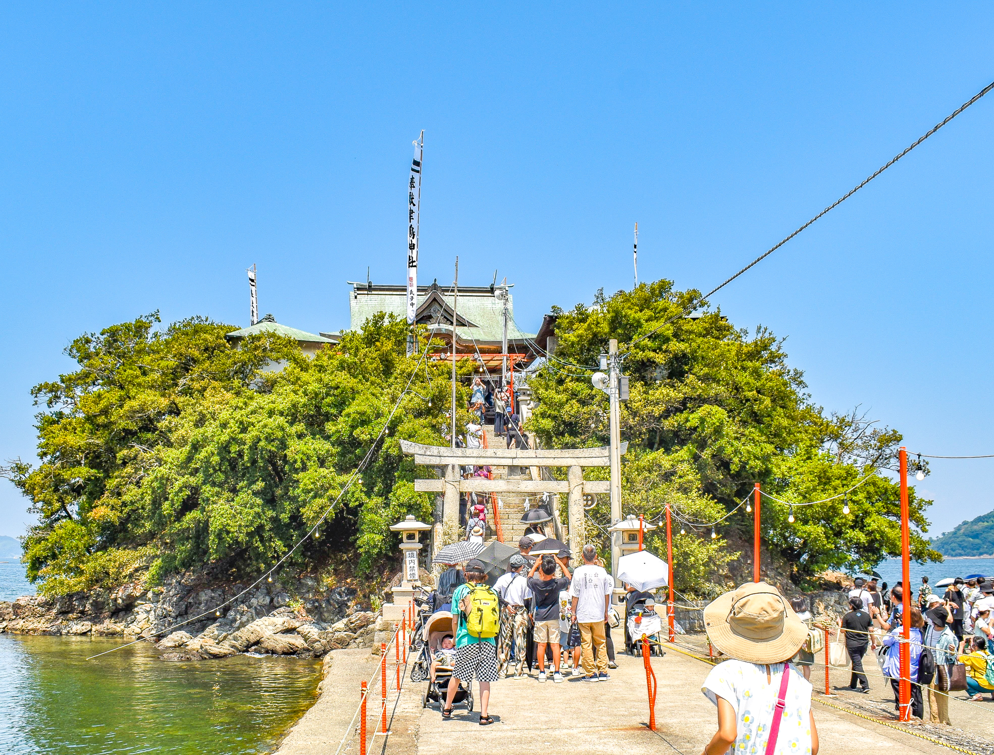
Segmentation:
{"type": "Polygon", "coordinates": [[[789,662],[807,639],[807,626],[780,592],[747,582],[710,603],[704,625],[712,645],[730,658],[712,668],[701,687],[718,708],[718,731],[704,755],[818,755],[811,682],[789,662]]]}

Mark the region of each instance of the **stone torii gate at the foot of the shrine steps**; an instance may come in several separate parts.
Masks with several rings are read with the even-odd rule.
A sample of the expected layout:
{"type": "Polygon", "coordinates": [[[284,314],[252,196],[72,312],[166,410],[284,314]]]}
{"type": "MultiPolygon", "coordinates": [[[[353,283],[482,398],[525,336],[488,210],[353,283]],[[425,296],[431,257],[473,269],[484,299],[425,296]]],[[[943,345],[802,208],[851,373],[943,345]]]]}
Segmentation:
{"type": "MultiPolygon", "coordinates": [[[[411,441],[401,441],[405,454],[414,457],[414,464],[424,467],[443,467],[445,476],[433,479],[415,479],[418,492],[441,492],[442,521],[440,537],[436,543],[454,542],[459,537],[459,493],[462,492],[516,492],[516,493],[567,493],[567,521],[570,528],[570,551],[580,558],[580,548],[585,539],[583,525],[583,495],[610,492],[610,480],[584,480],[584,467],[610,467],[610,449],[452,449],[447,446],[425,446],[411,441]],[[561,479],[462,479],[459,467],[567,467],[567,478],[561,479]]],[[[620,452],[628,449],[622,443],[620,452]]],[[[436,546],[437,547],[437,546],[436,546]]]]}

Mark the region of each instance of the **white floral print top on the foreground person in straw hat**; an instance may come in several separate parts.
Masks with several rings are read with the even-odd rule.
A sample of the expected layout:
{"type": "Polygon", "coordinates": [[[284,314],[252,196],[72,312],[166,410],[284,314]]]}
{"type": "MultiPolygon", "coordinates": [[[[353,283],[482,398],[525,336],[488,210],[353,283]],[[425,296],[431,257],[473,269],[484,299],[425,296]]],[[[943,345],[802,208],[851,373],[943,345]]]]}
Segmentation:
{"type": "Polygon", "coordinates": [[[725,698],[736,711],[736,741],[729,749],[731,755],[766,752],[784,665],[790,680],[773,754],[811,755],[811,682],[804,674],[789,663],[769,663],[767,682],[764,664],[725,661],[711,669],[701,691],[716,706],[719,697],[725,698]]]}

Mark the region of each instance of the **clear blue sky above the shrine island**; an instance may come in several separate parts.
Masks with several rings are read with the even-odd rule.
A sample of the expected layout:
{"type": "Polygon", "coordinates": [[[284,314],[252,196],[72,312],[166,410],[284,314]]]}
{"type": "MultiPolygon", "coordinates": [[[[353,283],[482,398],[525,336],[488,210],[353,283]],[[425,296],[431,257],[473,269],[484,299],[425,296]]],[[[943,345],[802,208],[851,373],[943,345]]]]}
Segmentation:
{"type": "MultiPolygon", "coordinates": [[[[640,279],[712,287],[994,80],[981,3],[209,5],[0,10],[0,459],[83,331],[246,325],[252,263],[311,331],[403,283],[421,128],[421,281],[497,269],[536,328],[631,285],[636,220],[640,279]]],[[[994,94],[715,299],[914,451],[994,453],[992,129],[994,94]]],[[[994,460],[932,470],[932,532],[994,508],[994,460]]]]}

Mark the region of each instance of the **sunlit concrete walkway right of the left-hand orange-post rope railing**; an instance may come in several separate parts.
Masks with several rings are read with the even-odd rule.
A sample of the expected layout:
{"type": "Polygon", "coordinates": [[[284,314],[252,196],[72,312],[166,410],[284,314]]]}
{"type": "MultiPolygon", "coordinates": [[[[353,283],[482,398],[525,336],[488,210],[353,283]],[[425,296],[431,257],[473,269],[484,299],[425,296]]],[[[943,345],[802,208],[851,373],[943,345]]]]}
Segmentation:
{"type": "MultiPolygon", "coordinates": [[[[615,647],[623,647],[620,633],[615,647]]],[[[716,727],[715,707],[701,693],[711,666],[667,650],[653,658],[659,688],[657,731],[650,731],[645,668],[641,659],[618,655],[611,679],[596,683],[568,680],[539,683],[536,678],[501,680],[493,685],[491,726],[479,725],[473,713],[457,707],[451,720],[441,718],[436,703],[421,708],[423,684],[402,694],[391,723],[394,732],[371,752],[391,755],[461,755],[481,751],[557,753],[658,753],[698,755],[716,727]]],[[[858,751],[942,752],[950,750],[894,729],[815,704],[823,755],[858,751]]]]}

